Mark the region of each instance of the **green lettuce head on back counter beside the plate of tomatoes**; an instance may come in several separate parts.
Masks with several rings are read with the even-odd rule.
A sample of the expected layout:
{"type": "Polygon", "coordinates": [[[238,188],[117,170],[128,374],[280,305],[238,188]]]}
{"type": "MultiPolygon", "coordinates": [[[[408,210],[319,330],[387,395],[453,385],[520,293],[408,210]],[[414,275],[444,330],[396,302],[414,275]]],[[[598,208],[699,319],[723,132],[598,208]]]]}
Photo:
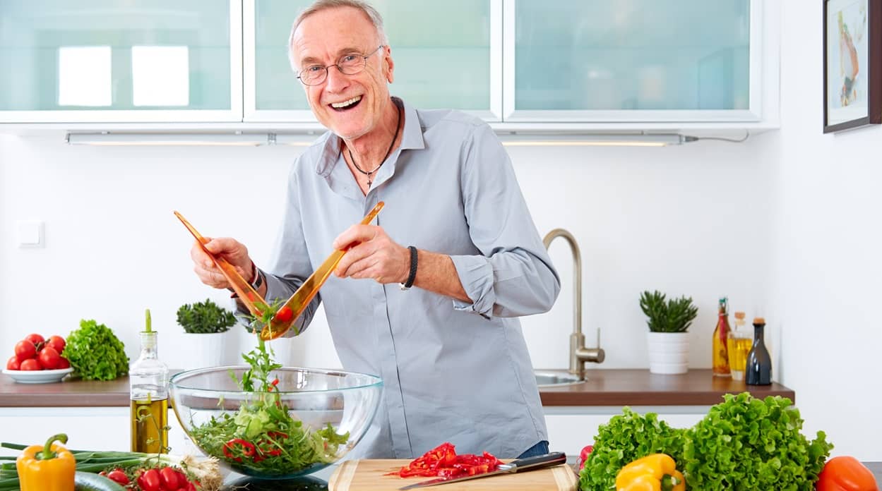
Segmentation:
{"type": "Polygon", "coordinates": [[[84,380],[113,380],[129,373],[129,357],[113,331],[93,320],[79,321],[66,339],[62,356],[71,362],[74,376],[84,380]]]}

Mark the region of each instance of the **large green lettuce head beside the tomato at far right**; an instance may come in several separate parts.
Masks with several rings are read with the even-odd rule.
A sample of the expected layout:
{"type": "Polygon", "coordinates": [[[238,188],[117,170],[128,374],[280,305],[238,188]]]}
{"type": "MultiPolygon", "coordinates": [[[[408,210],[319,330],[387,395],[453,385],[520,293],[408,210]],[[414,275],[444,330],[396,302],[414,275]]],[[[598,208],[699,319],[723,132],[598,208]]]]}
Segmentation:
{"type": "Polygon", "coordinates": [[[811,442],[800,433],[803,420],[792,404],[747,392],[723,396],[687,435],[688,487],[811,491],[833,445],[823,431],[811,442]]]}

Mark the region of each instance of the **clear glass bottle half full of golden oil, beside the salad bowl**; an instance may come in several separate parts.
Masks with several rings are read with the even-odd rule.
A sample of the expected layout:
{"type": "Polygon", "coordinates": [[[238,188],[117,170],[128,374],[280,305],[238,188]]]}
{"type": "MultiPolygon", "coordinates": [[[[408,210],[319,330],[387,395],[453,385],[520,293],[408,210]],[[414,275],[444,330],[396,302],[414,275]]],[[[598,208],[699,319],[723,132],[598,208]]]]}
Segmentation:
{"type": "Polygon", "coordinates": [[[129,368],[131,451],[168,452],[168,367],[157,357],[149,309],[140,334],[141,354],[129,368]]]}

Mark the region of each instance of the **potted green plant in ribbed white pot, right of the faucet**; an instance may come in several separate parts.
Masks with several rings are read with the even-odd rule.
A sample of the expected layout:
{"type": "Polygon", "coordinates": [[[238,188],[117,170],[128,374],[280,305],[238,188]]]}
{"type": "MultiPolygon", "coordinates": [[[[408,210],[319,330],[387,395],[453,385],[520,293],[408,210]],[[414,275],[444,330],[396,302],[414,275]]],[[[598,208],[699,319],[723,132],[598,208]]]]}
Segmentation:
{"type": "Polygon", "coordinates": [[[699,309],[691,297],[666,298],[658,291],[640,294],[640,309],[647,316],[649,371],[654,374],[684,374],[689,370],[689,337],[686,330],[699,309]]]}

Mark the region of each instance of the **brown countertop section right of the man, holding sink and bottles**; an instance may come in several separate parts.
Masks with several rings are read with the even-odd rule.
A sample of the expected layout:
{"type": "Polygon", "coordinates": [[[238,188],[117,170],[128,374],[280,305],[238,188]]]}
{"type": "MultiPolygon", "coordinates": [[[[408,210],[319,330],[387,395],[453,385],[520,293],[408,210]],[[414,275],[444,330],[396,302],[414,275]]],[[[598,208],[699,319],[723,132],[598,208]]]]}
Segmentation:
{"type": "Polygon", "coordinates": [[[796,393],[780,383],[746,385],[713,375],[710,368],[683,375],[654,375],[647,368],[588,370],[587,381],[541,387],[542,405],[714,405],[723,394],[748,391],[754,397],[783,396],[796,404],[796,393]]]}

